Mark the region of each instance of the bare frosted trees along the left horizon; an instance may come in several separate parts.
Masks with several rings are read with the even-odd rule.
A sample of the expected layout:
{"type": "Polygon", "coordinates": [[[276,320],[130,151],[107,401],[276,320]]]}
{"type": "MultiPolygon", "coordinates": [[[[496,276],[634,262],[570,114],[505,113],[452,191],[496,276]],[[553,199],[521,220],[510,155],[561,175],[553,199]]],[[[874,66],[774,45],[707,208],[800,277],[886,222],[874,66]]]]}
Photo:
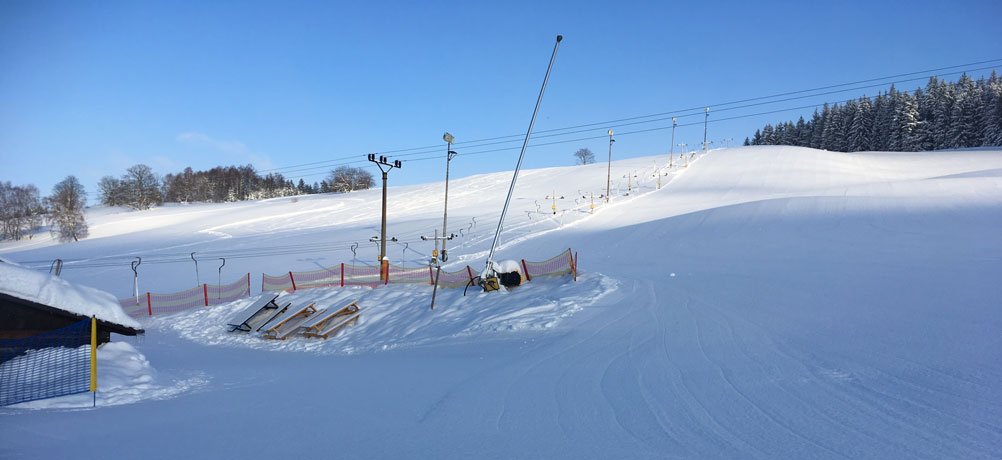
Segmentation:
{"type": "MultiPolygon", "coordinates": [[[[302,178],[294,183],[281,173],[262,175],[254,166],[217,166],[204,171],[190,167],[160,176],[145,164],[136,164],[119,177],[105,175],[97,183],[101,204],[148,209],[164,202],[224,202],[312,193],[346,193],[375,183],[372,173],[338,166],[313,184],[302,178]]],[[[73,175],[57,183],[42,197],[32,184],[0,181],[0,240],[31,239],[49,226],[53,238],[73,242],[88,235],[83,209],[87,202],[83,184],[73,175]]]]}

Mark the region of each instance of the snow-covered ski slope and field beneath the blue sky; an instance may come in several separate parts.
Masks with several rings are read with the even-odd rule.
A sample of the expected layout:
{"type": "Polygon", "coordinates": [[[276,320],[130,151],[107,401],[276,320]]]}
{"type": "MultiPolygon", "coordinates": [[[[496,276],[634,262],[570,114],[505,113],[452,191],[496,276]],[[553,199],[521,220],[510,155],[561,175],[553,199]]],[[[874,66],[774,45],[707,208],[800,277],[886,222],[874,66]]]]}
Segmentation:
{"type": "MultiPolygon", "coordinates": [[[[97,409],[0,409],[0,457],[1000,456],[1002,151],[665,159],[614,162],[608,204],[604,163],[524,171],[500,259],[572,248],[576,283],[443,290],[435,311],[420,286],[289,295],[359,299],[360,322],[327,342],[226,333],[247,300],[145,320],[101,350],[97,409]]],[[[447,270],[483,267],[509,179],[450,182],[447,270]]],[[[441,226],[443,192],[391,188],[395,264],[430,255],[418,237],[441,226]]],[[[0,257],[61,258],[65,279],[118,297],[136,256],[142,292],[194,285],[192,252],[197,281],[226,258],[223,283],[257,285],[374,265],[379,193],[93,209],[89,239],[0,257]]]]}

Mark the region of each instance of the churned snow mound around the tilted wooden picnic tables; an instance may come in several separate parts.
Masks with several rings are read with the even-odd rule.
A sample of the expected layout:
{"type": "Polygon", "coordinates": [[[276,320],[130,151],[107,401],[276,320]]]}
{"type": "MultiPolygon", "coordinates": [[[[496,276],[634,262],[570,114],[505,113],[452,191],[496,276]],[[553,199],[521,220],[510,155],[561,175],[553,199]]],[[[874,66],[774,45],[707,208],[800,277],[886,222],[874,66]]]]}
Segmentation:
{"type": "Polygon", "coordinates": [[[427,287],[394,289],[346,288],[307,290],[282,296],[277,303],[340,308],[360,300],[363,309],[356,326],[329,340],[269,341],[259,334],[233,334],[225,325],[242,313],[254,299],[188,312],[158,320],[157,326],[204,345],[246,347],[269,351],[310,351],[317,354],[364,354],[430,344],[468,342],[513,331],[545,331],[615,289],[615,282],[600,275],[583,278],[577,285],[547,280],[524,289],[494,296],[471,289],[442,290],[436,311],[430,311],[427,287]]]}

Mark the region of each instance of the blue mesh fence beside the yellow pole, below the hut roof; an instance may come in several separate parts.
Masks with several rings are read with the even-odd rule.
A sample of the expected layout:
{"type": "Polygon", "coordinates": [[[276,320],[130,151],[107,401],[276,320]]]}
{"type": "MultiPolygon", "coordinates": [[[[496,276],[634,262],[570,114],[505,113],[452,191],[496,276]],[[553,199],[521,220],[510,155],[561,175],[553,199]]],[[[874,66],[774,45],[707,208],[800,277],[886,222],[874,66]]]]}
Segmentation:
{"type": "Polygon", "coordinates": [[[0,406],[84,393],[89,386],[90,319],[0,340],[0,406]]]}

